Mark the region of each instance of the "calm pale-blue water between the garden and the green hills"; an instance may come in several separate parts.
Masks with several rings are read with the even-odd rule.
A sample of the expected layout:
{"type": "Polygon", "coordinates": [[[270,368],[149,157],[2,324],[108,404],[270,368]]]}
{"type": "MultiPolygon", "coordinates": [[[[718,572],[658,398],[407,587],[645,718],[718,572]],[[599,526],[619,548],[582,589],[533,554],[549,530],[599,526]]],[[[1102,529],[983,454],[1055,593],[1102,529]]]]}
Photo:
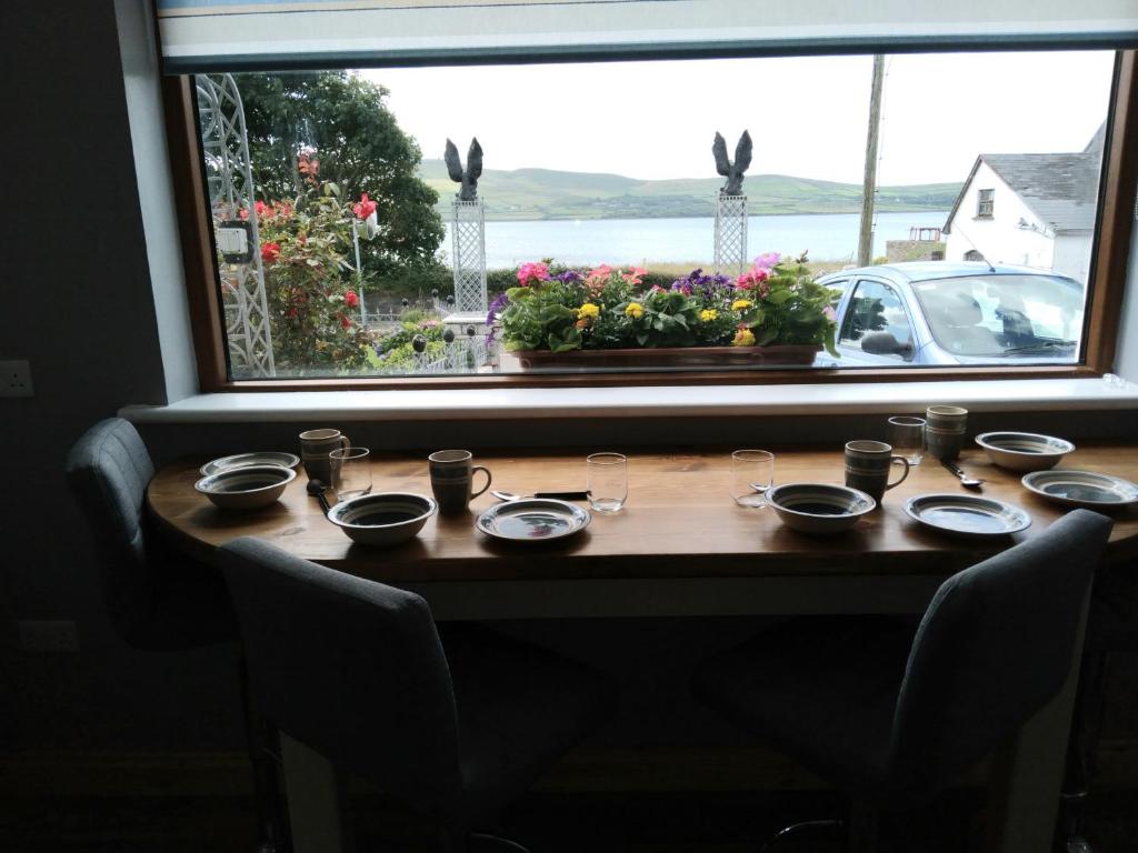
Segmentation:
{"type": "MultiPolygon", "coordinates": [[[[873,254],[885,254],[887,240],[907,240],[909,229],[940,227],[947,212],[877,215],[873,254]]],[[[814,260],[848,260],[857,256],[858,214],[751,216],[748,254],[809,250],[814,260]]],[[[451,229],[443,249],[451,252],[451,229]]],[[[487,222],[486,265],[512,267],[527,260],[555,258],[563,264],[641,264],[710,262],[715,256],[715,220],[543,220],[487,222]]]]}

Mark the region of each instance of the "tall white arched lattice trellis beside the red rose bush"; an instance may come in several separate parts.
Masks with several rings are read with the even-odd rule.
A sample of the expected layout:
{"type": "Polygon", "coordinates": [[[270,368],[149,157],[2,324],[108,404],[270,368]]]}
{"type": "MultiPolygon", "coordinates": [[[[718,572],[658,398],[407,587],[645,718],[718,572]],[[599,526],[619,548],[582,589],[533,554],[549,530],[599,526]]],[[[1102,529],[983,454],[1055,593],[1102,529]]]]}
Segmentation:
{"type": "Polygon", "coordinates": [[[218,258],[230,370],[234,379],[273,376],[272,330],[265,295],[265,274],[261,265],[261,238],[254,206],[254,183],[249,159],[249,139],[245,108],[232,75],[195,77],[198,115],[201,122],[201,149],[209,190],[214,229],[237,220],[245,210],[250,226],[253,251],[246,263],[218,258]]]}

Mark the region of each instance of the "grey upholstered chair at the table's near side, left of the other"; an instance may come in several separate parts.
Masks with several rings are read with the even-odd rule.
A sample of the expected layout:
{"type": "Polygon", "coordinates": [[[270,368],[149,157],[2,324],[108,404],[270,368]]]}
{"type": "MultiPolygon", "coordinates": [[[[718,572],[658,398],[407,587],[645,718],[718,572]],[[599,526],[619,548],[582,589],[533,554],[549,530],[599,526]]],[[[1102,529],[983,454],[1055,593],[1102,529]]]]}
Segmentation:
{"type": "MultiPolygon", "coordinates": [[[[250,537],[222,546],[254,701],[338,770],[427,820],[446,851],[608,712],[596,672],[250,537]]],[[[513,845],[511,845],[513,846],[513,845]]]]}

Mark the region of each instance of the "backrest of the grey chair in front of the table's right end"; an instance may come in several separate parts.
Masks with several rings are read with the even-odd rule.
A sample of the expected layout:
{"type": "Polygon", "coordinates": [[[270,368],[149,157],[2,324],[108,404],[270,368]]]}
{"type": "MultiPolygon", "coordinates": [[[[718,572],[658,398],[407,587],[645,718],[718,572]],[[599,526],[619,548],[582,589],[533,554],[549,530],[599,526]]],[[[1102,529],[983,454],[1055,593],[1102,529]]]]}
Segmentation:
{"type": "Polygon", "coordinates": [[[890,776],[899,785],[943,788],[1059,691],[1111,525],[1077,510],[945,581],[897,701],[890,776]]]}

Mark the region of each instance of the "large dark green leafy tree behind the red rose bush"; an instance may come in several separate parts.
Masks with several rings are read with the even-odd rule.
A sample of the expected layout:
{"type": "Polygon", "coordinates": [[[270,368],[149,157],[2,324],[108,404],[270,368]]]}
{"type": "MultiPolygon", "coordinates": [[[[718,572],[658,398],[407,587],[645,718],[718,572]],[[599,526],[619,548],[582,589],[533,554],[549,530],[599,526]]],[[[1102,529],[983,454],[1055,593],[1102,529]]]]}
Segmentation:
{"type": "Polygon", "coordinates": [[[415,174],[422,154],[385,105],[387,89],[347,72],[242,74],[238,88],[263,201],[305,196],[318,176],[302,174],[298,155],[311,151],[319,181],[336,183],[340,198],[366,192],[379,205],[380,237],[362,252],[366,273],[434,263],[445,234],[438,194],[415,174]]]}

